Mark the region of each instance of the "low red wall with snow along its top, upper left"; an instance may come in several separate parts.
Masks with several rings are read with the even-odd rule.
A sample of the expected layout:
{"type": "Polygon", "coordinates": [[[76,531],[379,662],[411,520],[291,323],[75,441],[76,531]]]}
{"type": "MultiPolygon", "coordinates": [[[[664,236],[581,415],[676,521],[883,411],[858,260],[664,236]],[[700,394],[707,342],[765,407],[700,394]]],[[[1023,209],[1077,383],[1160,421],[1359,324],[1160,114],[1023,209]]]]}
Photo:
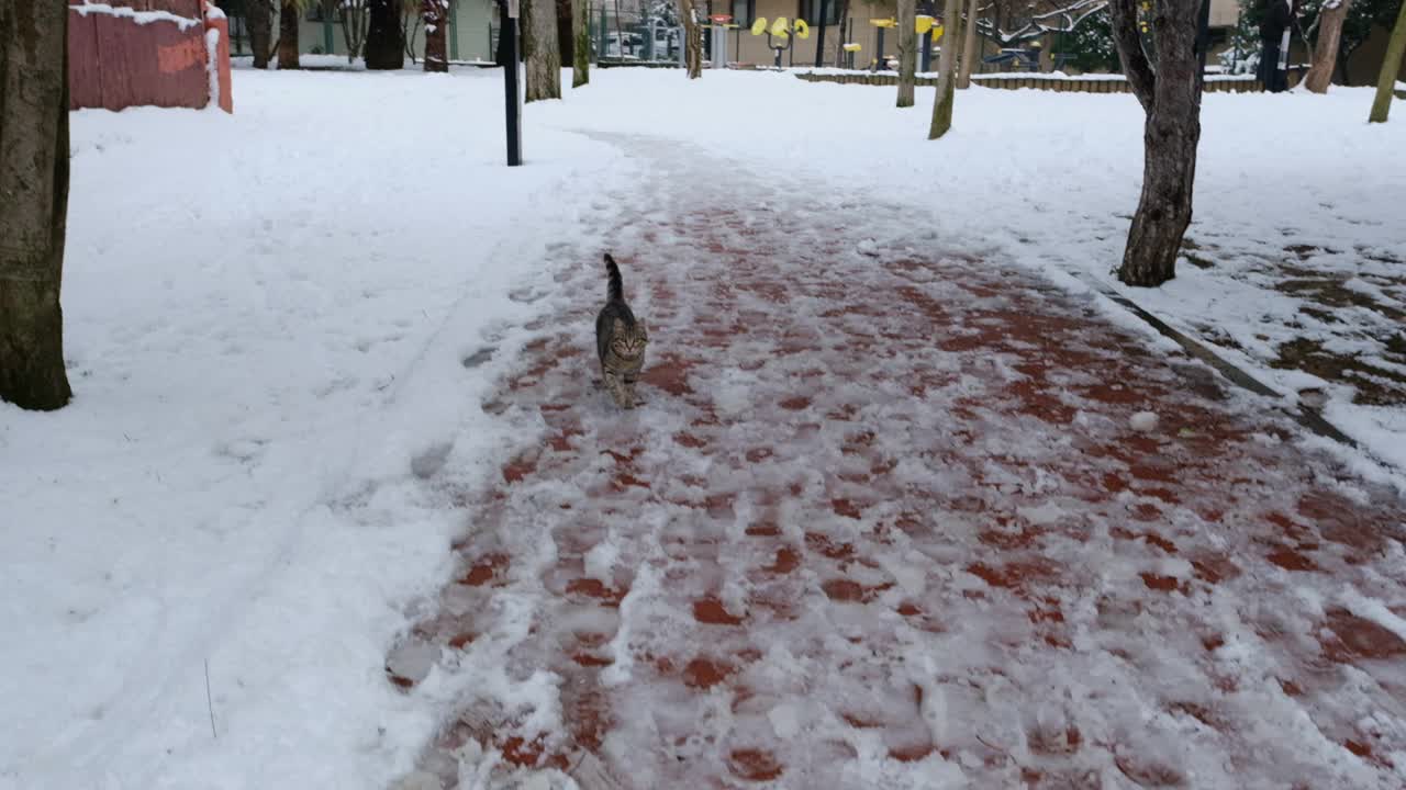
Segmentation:
{"type": "Polygon", "coordinates": [[[229,24],[205,0],[70,0],[72,110],[200,108],[218,96],[232,112],[229,87],[229,24]]]}

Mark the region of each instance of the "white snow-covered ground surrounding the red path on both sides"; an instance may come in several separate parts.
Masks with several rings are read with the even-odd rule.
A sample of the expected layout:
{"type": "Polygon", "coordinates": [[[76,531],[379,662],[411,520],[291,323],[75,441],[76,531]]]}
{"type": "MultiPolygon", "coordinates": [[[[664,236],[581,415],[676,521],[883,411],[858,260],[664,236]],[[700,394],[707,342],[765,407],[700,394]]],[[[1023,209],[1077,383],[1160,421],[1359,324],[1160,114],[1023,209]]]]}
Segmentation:
{"type": "MultiPolygon", "coordinates": [[[[451,569],[456,492],[496,474],[508,437],[478,401],[550,304],[553,245],[591,249],[603,190],[664,177],[609,135],[686,141],[724,183],[825,180],[856,218],[911,207],[945,252],[1070,285],[1111,281],[1142,160],[1116,94],[972,90],[931,143],[931,89],[900,112],[877,87],[613,69],[529,107],[529,166],[508,170],[492,70],[233,89],[233,117],[75,114],[77,398],[0,405],[0,787],[371,789],[412,765],[441,708],[382,661],[451,569]],[[484,337],[498,351],[464,364],[484,337]]],[[[1208,96],[1191,238],[1212,266],[1130,295],[1281,391],[1323,387],[1406,462],[1399,406],[1268,367],[1299,336],[1402,364],[1379,312],[1308,320],[1261,271],[1330,270],[1406,309],[1378,280],[1406,260],[1406,124],[1368,127],[1369,103],[1208,96]]]]}

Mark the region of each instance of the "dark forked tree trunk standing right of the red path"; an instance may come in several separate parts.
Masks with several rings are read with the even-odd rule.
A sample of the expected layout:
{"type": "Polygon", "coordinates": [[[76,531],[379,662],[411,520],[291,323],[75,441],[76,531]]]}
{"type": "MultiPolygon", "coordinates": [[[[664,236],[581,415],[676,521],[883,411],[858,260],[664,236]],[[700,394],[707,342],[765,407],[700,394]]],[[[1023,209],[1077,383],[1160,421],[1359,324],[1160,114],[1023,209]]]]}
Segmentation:
{"type": "Polygon", "coordinates": [[[1147,118],[1143,125],[1143,187],[1128,231],[1118,278],[1156,287],[1177,276],[1181,239],[1191,225],[1191,198],[1201,142],[1201,67],[1197,59],[1198,0],[1163,0],[1152,20],[1157,69],[1143,51],[1137,0],[1112,0],[1114,42],[1123,75],[1147,118]]]}

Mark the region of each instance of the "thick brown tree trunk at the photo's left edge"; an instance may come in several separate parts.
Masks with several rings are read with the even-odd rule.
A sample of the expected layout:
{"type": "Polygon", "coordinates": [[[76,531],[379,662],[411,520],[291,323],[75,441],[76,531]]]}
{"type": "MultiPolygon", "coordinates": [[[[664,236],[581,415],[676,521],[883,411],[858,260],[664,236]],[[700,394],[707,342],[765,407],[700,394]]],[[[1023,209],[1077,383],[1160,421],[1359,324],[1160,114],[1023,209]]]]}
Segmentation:
{"type": "Polygon", "coordinates": [[[0,401],[59,409],[69,4],[0,0],[0,401]]]}

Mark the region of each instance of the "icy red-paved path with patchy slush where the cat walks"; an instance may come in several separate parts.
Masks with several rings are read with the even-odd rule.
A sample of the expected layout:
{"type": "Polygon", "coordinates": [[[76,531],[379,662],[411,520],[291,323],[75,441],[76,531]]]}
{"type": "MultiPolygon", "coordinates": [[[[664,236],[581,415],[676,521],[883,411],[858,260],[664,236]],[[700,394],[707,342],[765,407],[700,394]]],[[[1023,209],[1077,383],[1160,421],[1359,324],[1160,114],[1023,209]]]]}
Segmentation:
{"type": "Polygon", "coordinates": [[[460,694],[418,780],[1402,783],[1391,492],[897,207],[614,142],[651,174],[598,204],[648,402],[592,387],[600,250],[562,245],[482,403],[519,451],[389,656],[460,694]]]}

